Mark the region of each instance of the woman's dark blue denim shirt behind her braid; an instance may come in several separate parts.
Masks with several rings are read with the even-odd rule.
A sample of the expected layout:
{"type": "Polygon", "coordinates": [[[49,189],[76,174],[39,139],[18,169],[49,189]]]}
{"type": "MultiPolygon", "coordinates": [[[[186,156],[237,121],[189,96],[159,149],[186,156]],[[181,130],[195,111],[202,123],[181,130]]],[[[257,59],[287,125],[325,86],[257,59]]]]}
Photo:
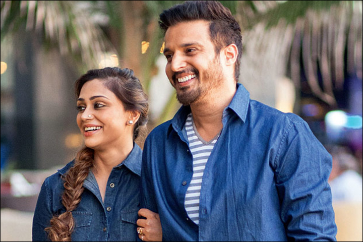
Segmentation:
{"type": "MultiPolygon", "coordinates": [[[[92,172],[85,179],[82,200],[72,212],[75,228],[73,241],[136,241],[136,221],[140,208],[140,172],[142,151],[137,144],[129,156],[115,166],[107,181],[104,202],[92,172]]],[[[64,175],[68,163],[47,177],[41,188],[33,219],[33,241],[48,240],[44,228],[53,214],[65,212],[62,205],[64,175]]]]}

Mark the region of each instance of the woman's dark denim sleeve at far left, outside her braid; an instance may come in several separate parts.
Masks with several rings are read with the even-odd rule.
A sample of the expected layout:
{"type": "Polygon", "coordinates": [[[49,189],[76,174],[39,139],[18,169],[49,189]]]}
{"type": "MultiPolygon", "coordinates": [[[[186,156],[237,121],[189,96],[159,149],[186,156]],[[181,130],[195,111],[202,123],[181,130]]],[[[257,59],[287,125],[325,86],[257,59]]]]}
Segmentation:
{"type": "Polygon", "coordinates": [[[38,202],[33,218],[33,241],[49,241],[45,228],[50,226],[50,219],[53,214],[51,212],[51,196],[49,192],[48,178],[45,179],[38,197],[38,202]]]}

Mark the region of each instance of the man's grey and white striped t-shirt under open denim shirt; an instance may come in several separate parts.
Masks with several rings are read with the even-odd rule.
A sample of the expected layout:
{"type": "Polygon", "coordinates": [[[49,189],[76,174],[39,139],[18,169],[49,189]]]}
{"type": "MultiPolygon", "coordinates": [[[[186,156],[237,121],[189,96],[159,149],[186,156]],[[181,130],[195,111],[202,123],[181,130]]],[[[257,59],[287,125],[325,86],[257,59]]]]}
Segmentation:
{"type": "Polygon", "coordinates": [[[192,113],[188,115],[185,128],[189,141],[189,149],[193,155],[193,177],[187,190],[185,207],[190,219],[196,224],[199,224],[199,197],[203,172],[219,134],[211,141],[205,142],[198,134],[193,122],[192,113]]]}

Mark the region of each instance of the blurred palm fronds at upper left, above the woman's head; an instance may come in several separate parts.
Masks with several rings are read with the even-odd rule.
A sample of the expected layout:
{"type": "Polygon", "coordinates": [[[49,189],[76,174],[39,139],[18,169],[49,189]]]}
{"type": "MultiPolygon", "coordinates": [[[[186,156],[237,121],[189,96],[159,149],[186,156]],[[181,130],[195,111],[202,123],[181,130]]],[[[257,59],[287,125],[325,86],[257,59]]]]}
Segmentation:
{"type": "Polygon", "coordinates": [[[23,31],[57,45],[61,54],[96,68],[103,54],[115,53],[101,28],[78,1],[1,1],[1,39],[23,31]]]}

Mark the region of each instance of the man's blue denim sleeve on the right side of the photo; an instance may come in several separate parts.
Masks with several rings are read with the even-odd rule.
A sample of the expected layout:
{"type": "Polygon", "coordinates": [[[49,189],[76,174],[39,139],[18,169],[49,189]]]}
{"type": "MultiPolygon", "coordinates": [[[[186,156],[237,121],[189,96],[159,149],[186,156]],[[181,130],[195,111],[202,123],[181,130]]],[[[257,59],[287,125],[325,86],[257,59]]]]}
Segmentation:
{"type": "Polygon", "coordinates": [[[328,185],[331,166],[330,154],[307,123],[286,127],[275,159],[275,177],[288,240],[336,240],[328,185]]]}

